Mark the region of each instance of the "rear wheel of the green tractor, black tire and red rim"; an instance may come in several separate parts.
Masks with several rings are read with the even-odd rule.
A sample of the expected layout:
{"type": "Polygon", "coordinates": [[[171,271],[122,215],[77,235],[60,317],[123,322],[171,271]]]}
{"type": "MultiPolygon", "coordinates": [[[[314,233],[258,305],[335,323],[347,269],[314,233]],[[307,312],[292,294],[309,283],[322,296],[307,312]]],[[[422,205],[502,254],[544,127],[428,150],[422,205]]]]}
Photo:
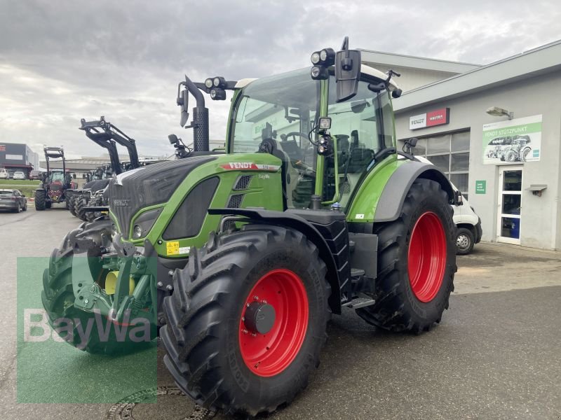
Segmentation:
{"type": "Polygon", "coordinates": [[[440,323],[442,312],[448,309],[457,271],[452,212],[448,196],[438,183],[418,179],[405,197],[400,217],[393,222],[374,224],[374,234],[378,235],[376,303],[357,309],[361,318],[385,330],[416,334],[440,323]],[[431,226],[433,229],[423,231],[431,226]],[[410,249],[422,258],[410,260],[410,249]],[[424,265],[419,266],[419,262],[424,265]],[[419,267],[433,275],[419,276],[419,267]],[[419,289],[421,286],[427,289],[419,289]]]}

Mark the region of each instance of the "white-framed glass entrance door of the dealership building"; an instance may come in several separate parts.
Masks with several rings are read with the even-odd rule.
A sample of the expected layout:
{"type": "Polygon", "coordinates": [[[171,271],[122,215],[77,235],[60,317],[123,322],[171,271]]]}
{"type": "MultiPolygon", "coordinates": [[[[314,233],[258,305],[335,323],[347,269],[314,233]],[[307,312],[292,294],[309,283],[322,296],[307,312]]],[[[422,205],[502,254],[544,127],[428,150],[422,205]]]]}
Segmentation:
{"type": "Polygon", "coordinates": [[[522,167],[499,167],[499,221],[496,240],[520,245],[522,167]]]}

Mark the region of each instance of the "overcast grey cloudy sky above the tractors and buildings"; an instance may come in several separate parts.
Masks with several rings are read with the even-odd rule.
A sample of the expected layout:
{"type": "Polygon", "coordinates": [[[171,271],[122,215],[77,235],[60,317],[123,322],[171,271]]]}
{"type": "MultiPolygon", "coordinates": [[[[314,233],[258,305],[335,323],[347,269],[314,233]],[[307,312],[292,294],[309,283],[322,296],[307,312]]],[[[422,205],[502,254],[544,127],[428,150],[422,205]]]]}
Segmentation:
{"type": "MultiPolygon", "coordinates": [[[[558,1],[0,0],[0,141],[100,155],[79,131],[104,115],[140,154],[173,153],[177,83],[266,76],[351,48],[487,64],[561,38],[558,1]]],[[[207,101],[224,139],[229,101],[207,101]]]]}

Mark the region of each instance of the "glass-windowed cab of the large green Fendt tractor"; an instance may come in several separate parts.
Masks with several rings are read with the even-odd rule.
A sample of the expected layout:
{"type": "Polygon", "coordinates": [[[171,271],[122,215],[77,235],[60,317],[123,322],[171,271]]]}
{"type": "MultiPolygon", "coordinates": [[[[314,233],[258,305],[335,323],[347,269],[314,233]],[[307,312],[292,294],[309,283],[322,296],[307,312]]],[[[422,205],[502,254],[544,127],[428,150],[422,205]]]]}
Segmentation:
{"type": "Polygon", "coordinates": [[[339,102],[334,68],[327,71],[325,80],[301,69],[236,85],[228,153],[280,158],[288,208],[307,207],[313,194],[324,205],[345,207],[366,172],[388,152],[395,154],[395,85],[386,87],[384,73],[362,66],[356,94],[339,102]],[[319,126],[321,106],[327,107],[322,121],[329,129],[319,126]]]}

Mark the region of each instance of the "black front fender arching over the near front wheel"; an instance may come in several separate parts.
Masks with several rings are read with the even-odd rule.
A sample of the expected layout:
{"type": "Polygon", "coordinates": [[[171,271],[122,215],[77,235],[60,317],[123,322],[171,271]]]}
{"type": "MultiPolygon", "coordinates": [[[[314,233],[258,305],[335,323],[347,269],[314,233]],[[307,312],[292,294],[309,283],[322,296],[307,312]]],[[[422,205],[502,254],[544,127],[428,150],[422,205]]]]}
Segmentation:
{"type": "MultiPolygon", "coordinates": [[[[263,221],[269,225],[282,226],[283,228],[292,228],[302,232],[307,239],[309,239],[319,251],[319,256],[327,266],[326,278],[331,286],[331,296],[329,298],[329,305],[334,314],[341,314],[341,286],[350,281],[351,269],[349,266],[349,241],[346,241],[344,249],[340,249],[336,258],[327,241],[320,234],[315,225],[326,226],[321,219],[320,214],[333,214],[330,211],[314,211],[314,210],[299,210],[290,209],[287,211],[272,211],[265,209],[208,209],[208,214],[222,214],[243,216],[252,221],[263,221]],[[308,216],[304,218],[304,216],[308,216]],[[319,216],[318,216],[319,215],[319,216]],[[318,217],[314,217],[318,216],[318,217]],[[346,257],[346,258],[345,258],[346,257]]],[[[341,221],[344,222],[344,214],[341,213],[341,221]]],[[[344,224],[346,230],[346,224],[344,224]]],[[[338,235],[338,239],[343,239],[342,235],[338,235]]]]}

